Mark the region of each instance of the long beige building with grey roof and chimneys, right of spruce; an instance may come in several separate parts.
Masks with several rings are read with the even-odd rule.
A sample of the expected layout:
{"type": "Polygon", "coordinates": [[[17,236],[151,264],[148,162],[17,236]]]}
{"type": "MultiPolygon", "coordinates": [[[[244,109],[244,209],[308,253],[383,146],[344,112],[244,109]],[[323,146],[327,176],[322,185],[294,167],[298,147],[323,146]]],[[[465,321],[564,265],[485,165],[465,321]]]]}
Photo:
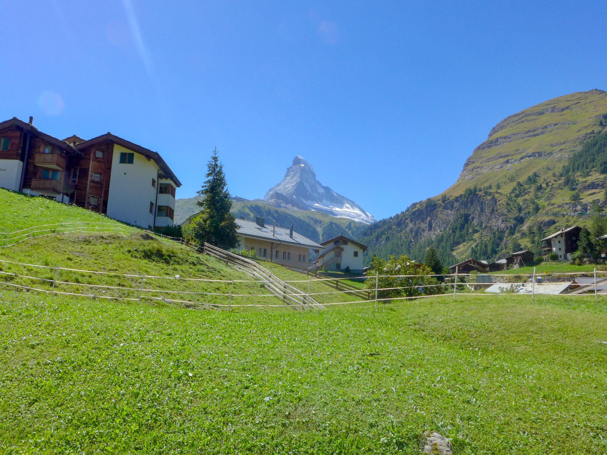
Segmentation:
{"type": "Polygon", "coordinates": [[[324,246],[316,243],[293,230],[279,226],[268,226],[265,219],[257,217],[255,221],[237,219],[239,249],[257,252],[257,256],[281,265],[297,269],[308,269],[310,266],[310,249],[316,254],[324,246]]]}

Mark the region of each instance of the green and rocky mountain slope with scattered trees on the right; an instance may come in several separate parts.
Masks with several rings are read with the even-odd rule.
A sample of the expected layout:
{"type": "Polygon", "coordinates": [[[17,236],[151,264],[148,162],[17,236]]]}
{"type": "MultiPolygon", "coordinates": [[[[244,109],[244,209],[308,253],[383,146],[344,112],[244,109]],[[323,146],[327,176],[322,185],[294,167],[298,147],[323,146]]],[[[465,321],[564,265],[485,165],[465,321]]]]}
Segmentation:
{"type": "Polygon", "coordinates": [[[446,265],[491,260],[518,248],[539,252],[540,238],[588,222],[605,205],[607,166],[575,154],[596,142],[607,122],[607,92],[560,96],[502,120],[473,150],[455,184],[438,197],[369,226],[359,237],[373,254],[423,260],[438,249],[446,265]],[[574,164],[572,164],[574,163],[574,164]],[[575,164],[577,163],[577,164],[575,164]],[[563,169],[565,167],[565,170],[563,169]]]}

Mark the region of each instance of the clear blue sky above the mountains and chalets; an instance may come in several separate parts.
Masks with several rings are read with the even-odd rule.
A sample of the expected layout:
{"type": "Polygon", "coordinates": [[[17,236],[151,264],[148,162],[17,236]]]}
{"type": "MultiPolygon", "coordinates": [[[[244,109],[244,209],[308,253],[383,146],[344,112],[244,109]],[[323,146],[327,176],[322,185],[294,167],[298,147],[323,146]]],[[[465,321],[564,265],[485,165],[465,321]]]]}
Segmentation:
{"type": "Polygon", "coordinates": [[[603,1],[4,2],[0,118],[158,150],[178,197],[195,194],[215,146],[232,195],[251,199],[302,155],[379,219],[446,189],[507,115],[607,89],[606,12],[603,1]]]}

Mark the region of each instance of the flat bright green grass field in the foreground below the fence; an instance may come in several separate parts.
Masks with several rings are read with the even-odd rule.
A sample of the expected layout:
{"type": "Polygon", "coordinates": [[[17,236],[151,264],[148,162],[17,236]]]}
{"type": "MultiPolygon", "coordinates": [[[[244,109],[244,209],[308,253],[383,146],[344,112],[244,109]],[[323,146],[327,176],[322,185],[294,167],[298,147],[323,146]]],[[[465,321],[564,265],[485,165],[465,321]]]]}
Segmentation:
{"type": "Polygon", "coordinates": [[[0,302],[2,453],[413,454],[433,430],[456,454],[607,451],[603,299],[0,302]]]}

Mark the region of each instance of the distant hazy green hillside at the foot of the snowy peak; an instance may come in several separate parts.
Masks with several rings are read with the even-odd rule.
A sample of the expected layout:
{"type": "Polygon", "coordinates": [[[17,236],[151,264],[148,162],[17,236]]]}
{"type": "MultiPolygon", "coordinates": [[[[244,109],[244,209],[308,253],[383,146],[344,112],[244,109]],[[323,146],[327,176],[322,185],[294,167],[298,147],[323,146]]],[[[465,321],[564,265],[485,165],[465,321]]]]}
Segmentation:
{"type": "MultiPolygon", "coordinates": [[[[175,223],[183,223],[190,215],[200,211],[196,201],[197,198],[177,200],[175,223]]],[[[276,221],[276,226],[289,227],[293,224],[297,232],[316,242],[328,240],[342,233],[356,239],[368,226],[359,221],[350,220],[350,218],[332,217],[323,212],[311,210],[277,208],[265,204],[263,201],[248,201],[242,198],[234,198],[232,213],[237,217],[245,217],[245,220],[263,217],[269,223],[276,221]]]]}

